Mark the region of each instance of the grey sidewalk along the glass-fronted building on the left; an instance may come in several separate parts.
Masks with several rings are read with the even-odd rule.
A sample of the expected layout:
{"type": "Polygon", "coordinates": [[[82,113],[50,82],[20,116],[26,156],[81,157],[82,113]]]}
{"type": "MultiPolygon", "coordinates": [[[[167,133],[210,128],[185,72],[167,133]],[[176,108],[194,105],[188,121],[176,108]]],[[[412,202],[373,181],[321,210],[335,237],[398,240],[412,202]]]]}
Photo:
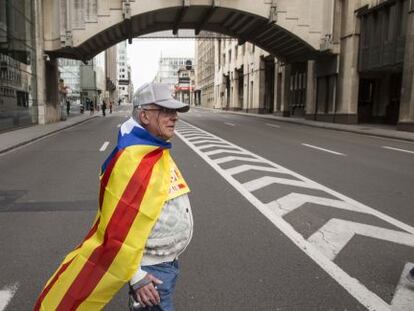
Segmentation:
{"type": "Polygon", "coordinates": [[[35,125],[2,133],[0,134],[0,154],[99,116],[100,114],[90,116],[87,112],[71,116],[66,121],[35,125]]]}

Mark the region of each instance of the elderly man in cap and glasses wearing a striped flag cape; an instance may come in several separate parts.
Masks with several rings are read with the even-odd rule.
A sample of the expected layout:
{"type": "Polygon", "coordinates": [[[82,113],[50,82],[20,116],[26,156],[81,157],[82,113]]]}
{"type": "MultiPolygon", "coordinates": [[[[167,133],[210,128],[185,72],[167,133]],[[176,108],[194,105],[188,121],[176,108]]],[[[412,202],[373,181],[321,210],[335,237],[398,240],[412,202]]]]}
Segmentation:
{"type": "Polygon", "coordinates": [[[126,282],[142,310],[174,310],[178,256],[192,236],[190,191],[169,149],[177,112],[168,86],[147,84],[102,166],[99,210],[85,240],[47,282],[34,310],[100,310],[126,282]]]}

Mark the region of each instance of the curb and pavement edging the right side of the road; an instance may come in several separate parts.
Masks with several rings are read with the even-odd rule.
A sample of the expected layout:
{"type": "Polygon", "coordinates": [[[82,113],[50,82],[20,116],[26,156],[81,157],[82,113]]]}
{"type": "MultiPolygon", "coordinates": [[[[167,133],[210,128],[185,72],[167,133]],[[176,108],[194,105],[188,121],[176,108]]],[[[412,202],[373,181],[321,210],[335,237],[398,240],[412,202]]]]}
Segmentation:
{"type": "MultiPolygon", "coordinates": [[[[361,134],[361,135],[366,135],[366,136],[375,136],[375,137],[398,139],[398,140],[403,140],[403,141],[414,142],[414,133],[411,133],[411,132],[398,132],[397,130],[395,130],[396,132],[395,134],[394,133],[389,133],[389,134],[375,133],[375,132],[368,132],[368,131],[359,130],[359,129],[344,128],[341,125],[346,126],[345,124],[338,124],[338,123],[335,123],[336,124],[335,126],[334,123],[310,123],[310,122],[316,122],[316,121],[309,122],[306,120],[294,120],[294,119],[277,117],[273,115],[249,114],[245,112],[227,111],[227,110],[205,108],[205,107],[192,107],[192,108],[200,109],[200,110],[207,110],[207,111],[216,111],[216,112],[219,111],[223,113],[246,116],[246,117],[255,117],[255,118],[261,118],[261,119],[275,120],[275,121],[286,122],[286,123],[291,123],[291,124],[299,124],[299,125],[304,125],[304,126],[309,126],[309,127],[323,128],[323,129],[329,129],[329,130],[341,131],[341,132],[349,132],[349,133],[361,134]],[[405,133],[407,133],[407,135],[412,134],[413,137],[402,136],[405,133]]],[[[372,129],[375,130],[375,128],[372,128],[372,129]]],[[[369,130],[371,130],[371,128],[369,130]]],[[[381,130],[381,129],[378,129],[378,130],[381,130]]]]}

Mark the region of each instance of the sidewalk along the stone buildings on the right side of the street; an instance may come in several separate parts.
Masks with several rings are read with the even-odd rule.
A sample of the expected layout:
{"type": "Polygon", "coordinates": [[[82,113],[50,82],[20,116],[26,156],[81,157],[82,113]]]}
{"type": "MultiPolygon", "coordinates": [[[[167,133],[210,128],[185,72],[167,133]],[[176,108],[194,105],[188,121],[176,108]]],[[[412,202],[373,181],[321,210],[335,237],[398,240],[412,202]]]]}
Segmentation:
{"type": "Polygon", "coordinates": [[[328,123],[328,122],[305,120],[302,118],[277,117],[274,115],[253,114],[253,113],[237,112],[237,111],[225,111],[225,110],[218,110],[218,109],[211,109],[211,108],[191,107],[191,109],[200,109],[200,110],[208,110],[208,111],[220,112],[220,113],[236,114],[236,115],[242,115],[242,116],[248,116],[248,117],[255,117],[255,118],[262,118],[262,119],[268,119],[268,120],[274,120],[274,121],[280,121],[280,122],[300,124],[300,125],[305,125],[305,126],[325,128],[325,129],[330,129],[330,130],[335,130],[335,131],[344,131],[344,132],[351,132],[351,133],[357,133],[357,134],[362,134],[362,135],[371,135],[371,136],[377,136],[377,137],[400,139],[400,140],[414,142],[413,132],[397,131],[395,129],[395,126],[392,126],[392,125],[339,124],[339,123],[328,123]]]}

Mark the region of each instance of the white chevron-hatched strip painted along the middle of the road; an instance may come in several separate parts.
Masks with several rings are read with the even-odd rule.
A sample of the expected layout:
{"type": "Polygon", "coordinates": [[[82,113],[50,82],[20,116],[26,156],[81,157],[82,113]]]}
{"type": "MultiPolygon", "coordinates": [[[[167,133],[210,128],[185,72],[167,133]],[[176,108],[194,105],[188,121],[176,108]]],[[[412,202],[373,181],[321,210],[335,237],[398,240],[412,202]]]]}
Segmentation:
{"type": "Polygon", "coordinates": [[[401,267],[400,281],[394,284],[394,297],[392,301],[385,301],[362,284],[358,275],[350,275],[335,262],[347,245],[356,243],[354,237],[357,236],[408,247],[414,258],[412,226],[184,121],[178,123],[176,133],[368,310],[412,310],[414,291],[407,288],[404,281],[404,273],[412,263],[406,262],[401,267]],[[289,187],[290,190],[282,195],[275,191],[270,201],[264,200],[260,193],[271,187],[289,187]],[[333,216],[307,236],[289,222],[289,215],[315,206],[330,209],[333,216]],[[335,211],[346,211],[358,217],[352,221],[341,219],[335,211]],[[375,221],[358,221],[360,215],[375,221]]]}

